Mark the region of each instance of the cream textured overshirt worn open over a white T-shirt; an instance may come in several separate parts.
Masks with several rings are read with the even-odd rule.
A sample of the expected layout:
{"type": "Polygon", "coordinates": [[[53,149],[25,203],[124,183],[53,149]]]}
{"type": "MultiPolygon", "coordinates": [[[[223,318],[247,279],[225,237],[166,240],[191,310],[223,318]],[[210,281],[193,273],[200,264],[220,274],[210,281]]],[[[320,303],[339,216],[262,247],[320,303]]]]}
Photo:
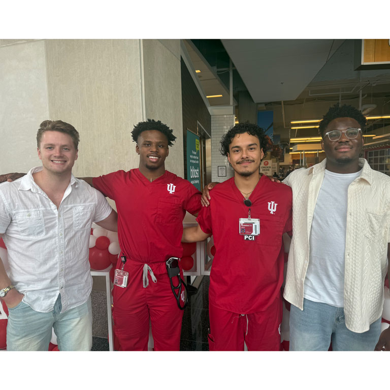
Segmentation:
{"type": "MultiPolygon", "coordinates": [[[[344,314],[346,327],[363,333],[382,314],[390,242],[390,177],[372,170],[364,158],[359,159],[359,165],[363,167],[362,174],[348,187],[344,314]]],[[[293,239],[283,296],[301,310],[311,223],[325,167],[326,159],[284,179],[293,189],[293,239]]]]}

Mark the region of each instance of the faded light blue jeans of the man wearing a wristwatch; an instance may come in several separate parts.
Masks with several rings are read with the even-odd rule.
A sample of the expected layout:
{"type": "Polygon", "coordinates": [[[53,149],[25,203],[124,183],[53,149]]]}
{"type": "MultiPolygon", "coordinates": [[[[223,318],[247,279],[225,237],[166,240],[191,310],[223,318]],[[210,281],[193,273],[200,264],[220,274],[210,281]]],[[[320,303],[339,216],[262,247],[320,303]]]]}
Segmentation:
{"type": "Polygon", "coordinates": [[[20,302],[8,309],[7,350],[47,351],[52,328],[60,351],[90,351],[92,347],[91,298],[80,306],[61,313],[58,295],[52,311],[41,313],[20,302]]]}

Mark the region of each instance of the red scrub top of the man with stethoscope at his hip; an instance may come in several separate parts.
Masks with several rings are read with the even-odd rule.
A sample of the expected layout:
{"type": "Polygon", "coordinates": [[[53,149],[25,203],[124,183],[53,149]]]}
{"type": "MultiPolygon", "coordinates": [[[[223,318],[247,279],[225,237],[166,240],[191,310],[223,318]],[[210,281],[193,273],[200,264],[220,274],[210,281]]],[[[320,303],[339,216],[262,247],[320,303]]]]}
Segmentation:
{"type": "Polygon", "coordinates": [[[140,263],[181,257],[185,212],[201,209],[201,192],[190,182],[165,171],[150,182],[139,169],[93,178],[93,186],[115,201],[122,252],[140,263]]]}

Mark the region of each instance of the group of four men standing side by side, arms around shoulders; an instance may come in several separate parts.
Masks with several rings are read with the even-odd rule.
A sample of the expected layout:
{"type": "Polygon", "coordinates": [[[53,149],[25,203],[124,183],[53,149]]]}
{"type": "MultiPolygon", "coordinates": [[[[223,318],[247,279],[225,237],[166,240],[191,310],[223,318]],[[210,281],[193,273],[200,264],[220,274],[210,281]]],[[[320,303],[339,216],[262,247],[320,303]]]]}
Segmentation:
{"type": "Polygon", "coordinates": [[[282,235],[291,231],[284,288],[292,304],[290,350],[328,350],[331,342],[333,350],[390,350],[390,329],[380,335],[390,178],[359,158],[365,121],[350,106],[332,107],[319,127],[327,158],[291,173],[288,185],[259,175],[262,129],[235,125],[221,141],[234,177],[205,188],[205,207],[194,186],[165,170],[176,137],[160,121],[134,127],[138,169],[84,181],[72,175],[75,128],[44,121],[37,135],[42,167],[17,180],[0,176],[8,180],[0,185],[0,234],[11,270],[8,277],[0,262],[7,349],[47,350],[52,327],[60,350],[90,349],[88,238],[96,222],[112,231],[117,225],[112,295],[122,350],[147,350],[149,318],[154,349],[179,350],[182,270],[178,262],[169,274],[167,260],[181,257],[181,241],[211,234],[210,350],[243,350],[244,342],[249,350],[279,350],[282,235]],[[186,211],[199,213],[198,225],[183,232],[186,211]]]}

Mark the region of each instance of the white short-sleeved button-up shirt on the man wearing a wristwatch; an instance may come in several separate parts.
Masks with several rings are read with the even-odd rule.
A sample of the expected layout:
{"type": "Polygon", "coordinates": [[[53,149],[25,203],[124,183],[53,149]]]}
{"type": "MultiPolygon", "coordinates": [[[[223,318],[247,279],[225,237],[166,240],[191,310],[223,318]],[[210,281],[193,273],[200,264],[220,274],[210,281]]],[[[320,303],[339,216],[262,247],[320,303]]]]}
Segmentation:
{"type": "Polygon", "coordinates": [[[72,175],[57,210],[32,177],[40,170],[0,184],[0,233],[10,279],[24,294],[23,302],[49,312],[61,294],[64,312],[89,297],[91,223],[107,218],[112,209],[101,192],[72,175]]]}

